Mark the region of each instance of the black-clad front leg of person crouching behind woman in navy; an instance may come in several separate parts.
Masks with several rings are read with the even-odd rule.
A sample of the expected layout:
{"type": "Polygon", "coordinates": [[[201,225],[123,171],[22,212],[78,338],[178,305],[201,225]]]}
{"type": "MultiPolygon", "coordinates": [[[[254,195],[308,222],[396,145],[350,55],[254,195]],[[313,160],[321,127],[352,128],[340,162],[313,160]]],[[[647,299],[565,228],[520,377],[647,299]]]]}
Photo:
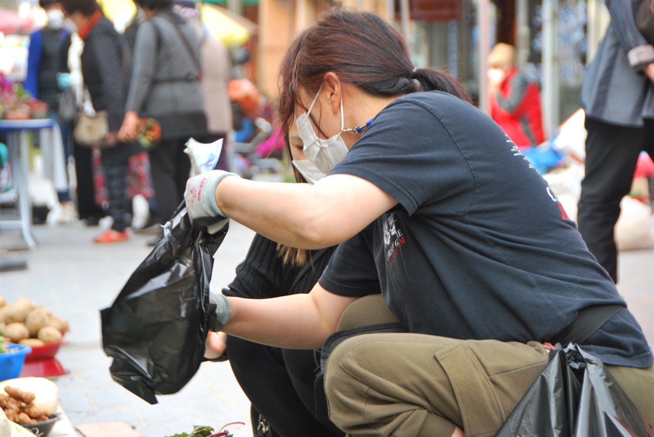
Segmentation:
{"type": "MultiPolygon", "coordinates": [[[[281,349],[228,336],[227,351],[236,380],[256,411],[281,437],[333,437],[303,404],[284,363],[281,349]]],[[[315,365],[313,351],[296,359],[315,365]]],[[[256,430],[257,423],[252,423],[256,430]]]]}

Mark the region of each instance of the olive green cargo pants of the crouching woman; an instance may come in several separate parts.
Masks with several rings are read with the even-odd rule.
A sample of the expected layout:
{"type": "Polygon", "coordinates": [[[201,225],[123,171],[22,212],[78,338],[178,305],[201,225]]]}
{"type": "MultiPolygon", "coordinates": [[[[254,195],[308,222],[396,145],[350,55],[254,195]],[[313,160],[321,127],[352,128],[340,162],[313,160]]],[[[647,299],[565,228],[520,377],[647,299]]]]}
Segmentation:
{"type": "MultiPolygon", "coordinates": [[[[358,299],[339,329],[394,317],[379,296],[358,299]]],[[[349,435],[494,436],[548,361],[538,342],[456,340],[424,334],[362,334],[330,355],[330,419],[349,435]]],[[[649,423],[654,368],[606,366],[649,423]]]]}

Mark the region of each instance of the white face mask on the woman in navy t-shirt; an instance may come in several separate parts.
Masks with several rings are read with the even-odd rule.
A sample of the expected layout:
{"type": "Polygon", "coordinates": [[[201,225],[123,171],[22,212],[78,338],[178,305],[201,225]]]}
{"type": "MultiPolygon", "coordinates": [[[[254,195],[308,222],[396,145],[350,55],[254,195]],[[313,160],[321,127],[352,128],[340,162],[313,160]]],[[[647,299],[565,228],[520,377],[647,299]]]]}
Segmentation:
{"type": "Polygon", "coordinates": [[[304,154],[320,172],[328,173],[347,155],[347,146],[345,146],[345,142],[341,138],[341,132],[343,132],[345,127],[343,122],[343,97],[341,97],[341,131],[334,135],[334,137],[322,140],[316,135],[311,125],[311,120],[309,120],[309,114],[311,113],[311,109],[313,109],[313,105],[318,100],[321,89],[322,86],[318,89],[316,97],[313,98],[309,110],[298,117],[295,125],[298,127],[298,133],[304,143],[304,154]]]}

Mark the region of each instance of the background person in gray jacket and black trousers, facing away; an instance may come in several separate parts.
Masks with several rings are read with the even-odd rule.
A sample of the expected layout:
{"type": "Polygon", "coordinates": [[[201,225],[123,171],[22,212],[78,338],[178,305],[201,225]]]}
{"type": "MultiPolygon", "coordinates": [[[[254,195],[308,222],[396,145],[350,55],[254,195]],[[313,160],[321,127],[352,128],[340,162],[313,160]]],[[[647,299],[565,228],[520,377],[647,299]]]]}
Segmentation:
{"type": "Polygon", "coordinates": [[[207,135],[199,41],[192,25],[173,12],[173,0],[136,0],[146,20],[139,25],[125,118],[119,136],[135,138],[139,118],[155,118],[162,140],[150,151],[152,186],[161,221],[184,196],[190,161],[188,138],[207,135]]]}

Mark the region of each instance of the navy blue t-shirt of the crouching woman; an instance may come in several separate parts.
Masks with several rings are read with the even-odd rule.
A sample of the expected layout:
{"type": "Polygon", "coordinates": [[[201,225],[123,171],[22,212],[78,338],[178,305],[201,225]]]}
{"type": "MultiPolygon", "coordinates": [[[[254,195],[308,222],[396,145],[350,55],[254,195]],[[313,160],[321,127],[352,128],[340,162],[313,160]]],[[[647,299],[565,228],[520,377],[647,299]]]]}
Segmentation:
{"type": "MultiPolygon", "coordinates": [[[[396,99],[330,174],[368,180],[399,204],[341,243],[320,285],[381,292],[407,332],[546,342],[581,308],[625,304],[525,155],[453,95],[396,99]]],[[[653,363],[628,310],[583,345],[606,364],[653,363]]]]}

